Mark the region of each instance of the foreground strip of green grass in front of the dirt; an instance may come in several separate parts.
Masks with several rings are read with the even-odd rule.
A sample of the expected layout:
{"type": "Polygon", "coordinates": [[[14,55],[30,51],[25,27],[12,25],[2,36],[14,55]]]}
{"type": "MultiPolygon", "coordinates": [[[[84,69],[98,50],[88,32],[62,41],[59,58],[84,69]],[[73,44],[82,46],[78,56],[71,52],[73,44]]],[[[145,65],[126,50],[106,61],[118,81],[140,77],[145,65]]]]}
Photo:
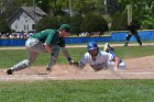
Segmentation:
{"type": "Polygon", "coordinates": [[[0,82],[0,102],[153,102],[154,80],[0,82]]]}

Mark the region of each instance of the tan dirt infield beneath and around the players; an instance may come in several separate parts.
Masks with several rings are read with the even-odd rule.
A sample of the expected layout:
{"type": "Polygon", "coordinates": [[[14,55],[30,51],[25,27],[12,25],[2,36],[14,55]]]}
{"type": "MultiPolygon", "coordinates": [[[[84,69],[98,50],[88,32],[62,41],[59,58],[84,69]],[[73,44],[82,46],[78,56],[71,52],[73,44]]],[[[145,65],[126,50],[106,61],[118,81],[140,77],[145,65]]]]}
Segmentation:
{"type": "MultiPolygon", "coordinates": [[[[131,45],[131,46],[135,46],[131,45]]],[[[154,45],[154,44],[145,44],[154,45]]],[[[121,46],[113,45],[113,46],[121,46]]],[[[69,46],[72,47],[72,46],[69,46]]],[[[79,46],[74,46],[79,47],[79,46]]],[[[80,46],[86,47],[86,46],[80,46]]],[[[12,47],[14,48],[14,47],[12,47]]],[[[15,47],[16,48],[16,47],[15,47]]],[[[20,47],[24,48],[24,47],[20,47]]],[[[4,48],[0,48],[4,49],[4,48]]],[[[8,48],[9,49],[9,48],[8,48]]],[[[16,71],[13,75],[6,75],[4,70],[0,70],[0,81],[19,81],[19,80],[85,80],[85,79],[154,79],[154,56],[146,56],[141,58],[125,59],[127,70],[100,70],[94,71],[89,66],[81,71],[69,65],[55,66],[52,72],[45,70],[44,67],[26,68],[16,71]]]]}

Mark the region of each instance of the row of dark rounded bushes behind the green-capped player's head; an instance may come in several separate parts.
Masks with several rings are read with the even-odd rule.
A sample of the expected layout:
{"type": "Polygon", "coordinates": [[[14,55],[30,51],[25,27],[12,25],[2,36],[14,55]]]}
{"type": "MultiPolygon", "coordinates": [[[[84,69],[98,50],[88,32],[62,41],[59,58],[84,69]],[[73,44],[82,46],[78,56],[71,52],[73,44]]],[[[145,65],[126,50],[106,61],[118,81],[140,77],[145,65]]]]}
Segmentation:
{"type": "Polygon", "coordinates": [[[67,23],[72,26],[72,33],[79,34],[81,32],[101,32],[108,31],[108,24],[101,15],[76,15],[76,16],[52,16],[42,19],[36,26],[36,31],[46,29],[58,29],[62,23],[67,23]],[[94,19],[95,18],[95,19],[94,19]]]}

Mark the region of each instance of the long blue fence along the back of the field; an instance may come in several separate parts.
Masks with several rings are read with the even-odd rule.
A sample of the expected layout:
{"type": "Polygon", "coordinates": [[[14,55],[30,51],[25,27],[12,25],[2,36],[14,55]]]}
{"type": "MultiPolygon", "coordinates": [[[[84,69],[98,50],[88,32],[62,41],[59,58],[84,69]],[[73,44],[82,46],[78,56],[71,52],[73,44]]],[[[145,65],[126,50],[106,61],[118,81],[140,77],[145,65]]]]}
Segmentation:
{"type": "MultiPolygon", "coordinates": [[[[141,31],[139,35],[142,41],[154,41],[154,31],[141,31]]],[[[79,44],[95,42],[124,42],[127,32],[112,33],[111,36],[99,36],[99,37],[67,37],[66,44],[79,44]]],[[[0,46],[24,46],[25,38],[0,38],[0,46]]],[[[136,42],[135,37],[132,36],[131,42],[136,42]]]]}

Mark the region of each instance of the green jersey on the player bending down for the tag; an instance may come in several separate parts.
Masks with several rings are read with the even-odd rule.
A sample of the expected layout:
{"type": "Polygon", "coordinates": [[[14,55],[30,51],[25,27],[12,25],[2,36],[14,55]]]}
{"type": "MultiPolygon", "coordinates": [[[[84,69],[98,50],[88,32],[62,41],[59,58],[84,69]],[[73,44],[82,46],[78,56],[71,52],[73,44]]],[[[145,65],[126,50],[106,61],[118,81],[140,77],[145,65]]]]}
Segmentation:
{"type": "Polygon", "coordinates": [[[61,47],[65,46],[65,39],[58,36],[57,30],[45,30],[38,33],[35,33],[31,37],[37,38],[42,43],[47,43],[52,45],[59,45],[61,47]]]}

